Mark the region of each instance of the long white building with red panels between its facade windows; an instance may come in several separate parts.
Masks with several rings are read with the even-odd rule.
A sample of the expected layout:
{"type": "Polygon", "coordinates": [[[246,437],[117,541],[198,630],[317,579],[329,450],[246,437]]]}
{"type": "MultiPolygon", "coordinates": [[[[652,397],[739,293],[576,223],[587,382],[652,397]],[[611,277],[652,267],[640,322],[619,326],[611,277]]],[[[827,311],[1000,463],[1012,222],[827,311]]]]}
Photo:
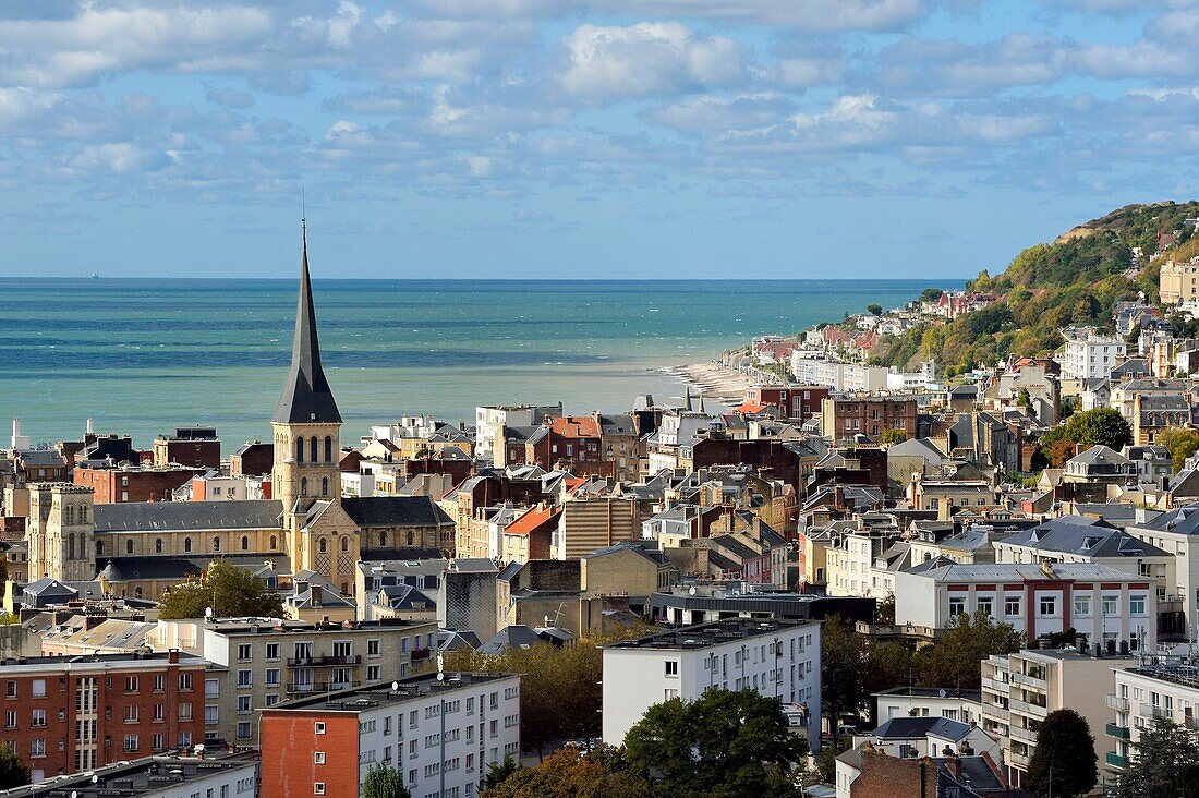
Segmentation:
{"type": "Polygon", "coordinates": [[[1152,583],[1105,565],[960,565],[930,560],[896,574],[896,623],[945,629],[982,610],[1030,641],[1074,629],[1127,653],[1157,644],[1152,583]]]}

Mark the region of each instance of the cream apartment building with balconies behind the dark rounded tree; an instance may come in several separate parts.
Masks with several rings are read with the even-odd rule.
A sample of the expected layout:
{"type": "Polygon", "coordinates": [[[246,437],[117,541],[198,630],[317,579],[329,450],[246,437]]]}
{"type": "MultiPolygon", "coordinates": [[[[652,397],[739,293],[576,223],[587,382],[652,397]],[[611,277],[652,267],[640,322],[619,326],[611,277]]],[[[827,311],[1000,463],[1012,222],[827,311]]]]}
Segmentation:
{"type": "Polygon", "coordinates": [[[1093,656],[1074,649],[1024,649],[983,660],[982,727],[999,738],[1001,764],[1013,787],[1024,786],[1041,724],[1049,713],[1068,707],[1101,738],[1110,715],[1103,696],[1111,689],[1111,671],[1129,665],[1128,656],[1093,656]]]}

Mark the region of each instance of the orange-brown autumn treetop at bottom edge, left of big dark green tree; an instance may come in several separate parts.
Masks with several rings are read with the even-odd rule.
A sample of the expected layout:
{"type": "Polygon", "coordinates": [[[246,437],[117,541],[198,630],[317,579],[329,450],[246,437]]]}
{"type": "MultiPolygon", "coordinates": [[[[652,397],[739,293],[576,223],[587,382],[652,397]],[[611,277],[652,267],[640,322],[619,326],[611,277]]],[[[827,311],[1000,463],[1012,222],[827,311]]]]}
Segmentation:
{"type": "Polygon", "coordinates": [[[650,798],[650,780],[628,767],[620,751],[585,754],[565,748],[535,768],[520,768],[486,786],[480,798],[650,798]]]}

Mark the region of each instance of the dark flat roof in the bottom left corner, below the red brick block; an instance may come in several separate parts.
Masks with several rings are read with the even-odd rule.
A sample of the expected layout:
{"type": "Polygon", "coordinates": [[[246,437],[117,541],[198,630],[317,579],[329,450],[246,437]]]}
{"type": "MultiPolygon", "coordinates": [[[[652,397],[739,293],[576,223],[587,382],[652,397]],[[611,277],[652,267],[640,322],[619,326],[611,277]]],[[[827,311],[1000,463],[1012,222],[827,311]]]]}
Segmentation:
{"type": "Polygon", "coordinates": [[[41,784],[6,790],[4,794],[12,798],[133,798],[206,779],[221,770],[257,768],[257,751],[205,756],[203,760],[197,756],[150,756],[73,775],[53,776],[41,784]]]}

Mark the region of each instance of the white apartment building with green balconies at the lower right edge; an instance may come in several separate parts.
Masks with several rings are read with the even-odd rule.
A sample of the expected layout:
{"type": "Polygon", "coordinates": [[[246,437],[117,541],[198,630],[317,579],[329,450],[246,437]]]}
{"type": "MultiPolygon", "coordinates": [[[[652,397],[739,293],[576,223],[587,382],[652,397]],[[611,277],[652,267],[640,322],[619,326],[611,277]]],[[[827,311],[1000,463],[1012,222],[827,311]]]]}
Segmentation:
{"type": "Polygon", "coordinates": [[[1128,767],[1133,745],[1152,718],[1167,718],[1192,732],[1199,731],[1199,660],[1194,654],[1158,655],[1117,670],[1115,691],[1107,696],[1107,706],[1115,713],[1104,727],[1107,739],[1093,726],[1091,733],[1101,764],[1120,773],[1128,767]]]}

